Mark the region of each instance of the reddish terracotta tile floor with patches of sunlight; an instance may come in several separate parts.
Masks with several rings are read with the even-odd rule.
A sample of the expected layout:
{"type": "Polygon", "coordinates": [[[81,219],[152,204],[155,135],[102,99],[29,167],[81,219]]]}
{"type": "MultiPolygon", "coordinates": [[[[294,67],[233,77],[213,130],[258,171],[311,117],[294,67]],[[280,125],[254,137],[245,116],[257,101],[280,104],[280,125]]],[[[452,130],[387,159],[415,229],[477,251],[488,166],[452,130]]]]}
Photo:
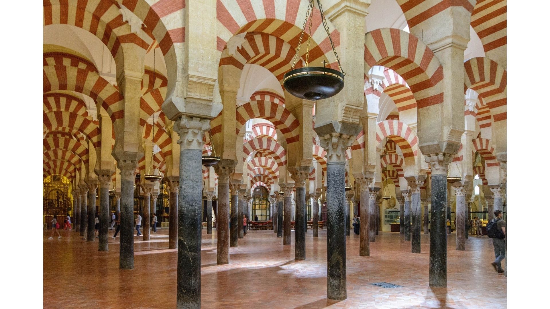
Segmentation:
{"type": "MultiPolygon", "coordinates": [[[[113,231],[109,231],[109,235],[113,231]]],[[[168,229],[151,241],[134,239],[135,269],[118,268],[119,243],[109,251],[77,233],[60,231],[47,239],[44,253],[45,308],[174,308],[176,249],[168,247],[168,229]]],[[[135,234],[135,233],[134,233],[135,234]]],[[[204,308],[505,308],[506,278],[491,266],[490,239],[470,237],[466,251],[448,241],[448,288],[428,287],[428,235],[422,253],[410,253],[403,235],[381,232],[371,256],[359,256],[359,235],[347,242],[348,299],[326,298],[326,230],[306,234],[307,260],[294,262],[292,245],[283,246],[273,231],[249,231],[230,249],[230,263],[216,265],[216,231],[202,235],[202,307],[204,308]],[[403,288],[370,285],[389,282],[403,288]]]]}

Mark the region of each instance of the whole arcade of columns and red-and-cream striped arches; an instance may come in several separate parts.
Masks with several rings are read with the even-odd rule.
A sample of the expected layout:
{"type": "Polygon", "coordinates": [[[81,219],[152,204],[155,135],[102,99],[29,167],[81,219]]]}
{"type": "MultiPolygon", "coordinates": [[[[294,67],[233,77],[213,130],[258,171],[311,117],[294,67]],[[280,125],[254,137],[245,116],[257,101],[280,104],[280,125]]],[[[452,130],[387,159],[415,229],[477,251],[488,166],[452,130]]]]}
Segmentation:
{"type": "MultiPolygon", "coordinates": [[[[306,200],[313,205],[313,236],[326,203],[327,296],[334,300],[346,298],[349,218],[360,214],[358,251],[369,256],[369,243],[382,228],[381,206],[394,207],[381,203],[384,190],[392,200],[403,197],[394,205],[402,208],[401,231],[412,253],[420,252],[430,207],[430,286],[447,285],[450,201],[456,250],[465,249],[475,175],[489,219],[502,209],[505,1],[399,0],[410,33],[384,27],[365,33],[370,1],[322,0],[346,77],[338,95],[316,102],[282,88],[256,89],[243,100],[241,90],[250,65],[267,69],[282,85],[308,1],[84,3],[45,2],[45,31],[69,25],[89,32],[110,52],[114,74],[104,74],[72,45],[45,45],[44,176],[61,174],[72,182],[75,229],[87,241],[94,241],[98,194],[100,251],[109,250],[108,197],[114,190],[120,269],[133,269],[136,174],[146,206],[156,204],[159,183],[142,176],[149,170],[161,175],[170,190],[168,246],[178,248],[178,308],[200,307],[202,196],[207,233],[217,233],[218,264],[230,263],[229,247],[242,238],[255,187],[270,190],[273,236],[284,245],[293,241],[287,214],[294,202],[296,260],[307,258],[306,200]],[[470,27],[485,57],[464,59],[470,27]],[[155,65],[160,69],[153,71],[155,65]],[[252,133],[250,122],[256,123],[252,133]],[[213,148],[221,162],[203,167],[201,156],[213,148]],[[448,175],[461,181],[449,188],[448,175]],[[346,185],[353,187],[348,194],[346,185]]],[[[309,63],[337,68],[320,23],[313,20],[309,63]]],[[[144,240],[150,238],[150,214],[144,207],[144,240]]]]}

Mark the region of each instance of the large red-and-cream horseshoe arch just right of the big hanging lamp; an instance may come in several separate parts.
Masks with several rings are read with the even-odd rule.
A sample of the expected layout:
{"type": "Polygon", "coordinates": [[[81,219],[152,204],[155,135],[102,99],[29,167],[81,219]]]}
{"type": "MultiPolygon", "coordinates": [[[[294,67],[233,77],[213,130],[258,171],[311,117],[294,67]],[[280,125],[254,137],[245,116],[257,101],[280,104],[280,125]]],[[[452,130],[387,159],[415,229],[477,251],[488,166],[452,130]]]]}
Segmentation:
{"type": "Polygon", "coordinates": [[[443,102],[443,67],[419,38],[382,28],[365,35],[365,72],[374,65],[394,70],[410,86],[417,108],[443,102]]]}

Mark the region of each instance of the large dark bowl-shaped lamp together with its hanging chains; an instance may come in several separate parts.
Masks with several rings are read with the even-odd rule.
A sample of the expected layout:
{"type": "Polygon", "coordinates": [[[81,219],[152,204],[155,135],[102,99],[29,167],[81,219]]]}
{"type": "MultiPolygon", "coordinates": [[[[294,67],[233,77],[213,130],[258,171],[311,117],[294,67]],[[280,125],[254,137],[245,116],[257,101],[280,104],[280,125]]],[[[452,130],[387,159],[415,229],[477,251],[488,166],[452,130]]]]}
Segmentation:
{"type": "Polygon", "coordinates": [[[298,41],[298,48],[296,48],[296,54],[294,55],[294,60],[292,63],[292,69],[288,73],[284,74],[283,77],[283,86],[291,95],[305,100],[316,101],[322,100],[336,95],[340,90],[344,88],[344,71],[342,69],[342,64],[340,64],[340,58],[338,53],[334,48],[334,42],[332,41],[331,33],[328,31],[327,20],[324,18],[323,8],[321,2],[317,1],[319,7],[319,12],[321,13],[321,20],[324,27],[324,30],[327,31],[328,40],[331,42],[332,51],[338,62],[338,70],[331,68],[326,68],[327,62],[323,60],[323,67],[307,67],[309,61],[309,51],[310,51],[310,40],[311,40],[311,26],[313,22],[313,2],[315,0],[309,1],[309,6],[307,7],[306,18],[304,20],[304,26],[302,27],[302,32],[300,34],[300,40],[298,41]],[[304,38],[304,33],[306,31],[307,18],[309,19],[309,33],[307,36],[307,51],[305,65],[302,68],[294,69],[296,61],[298,60],[300,53],[300,46],[302,39],[304,38]]]}

